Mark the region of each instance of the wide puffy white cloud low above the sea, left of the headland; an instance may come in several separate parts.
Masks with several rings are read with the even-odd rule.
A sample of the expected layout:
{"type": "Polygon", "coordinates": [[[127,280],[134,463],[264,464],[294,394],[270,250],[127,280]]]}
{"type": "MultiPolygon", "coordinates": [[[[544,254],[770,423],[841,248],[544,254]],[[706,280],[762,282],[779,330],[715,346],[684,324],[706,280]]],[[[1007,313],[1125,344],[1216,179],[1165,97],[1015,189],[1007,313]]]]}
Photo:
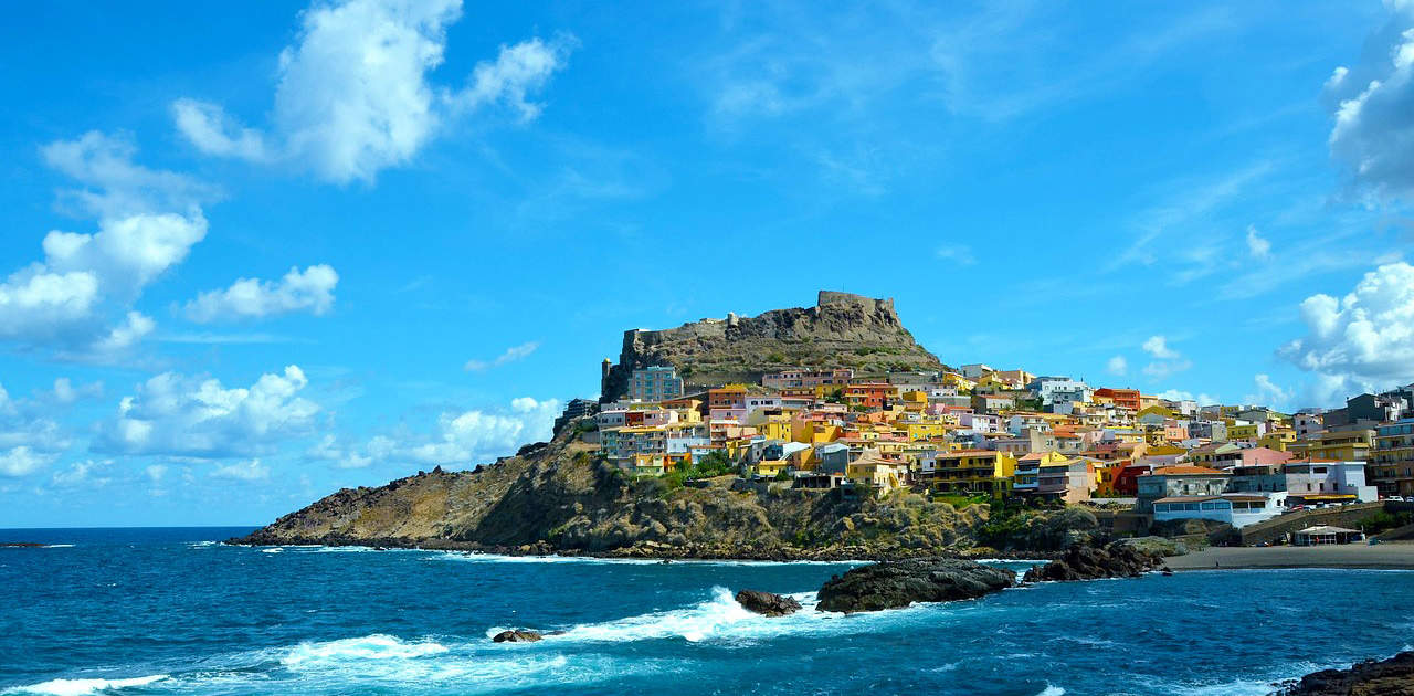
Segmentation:
{"type": "Polygon", "coordinates": [[[92,447],[198,458],[263,454],[314,427],[320,406],[298,396],[307,385],[296,365],[230,389],[218,379],[164,372],[123,398],[92,447]]]}

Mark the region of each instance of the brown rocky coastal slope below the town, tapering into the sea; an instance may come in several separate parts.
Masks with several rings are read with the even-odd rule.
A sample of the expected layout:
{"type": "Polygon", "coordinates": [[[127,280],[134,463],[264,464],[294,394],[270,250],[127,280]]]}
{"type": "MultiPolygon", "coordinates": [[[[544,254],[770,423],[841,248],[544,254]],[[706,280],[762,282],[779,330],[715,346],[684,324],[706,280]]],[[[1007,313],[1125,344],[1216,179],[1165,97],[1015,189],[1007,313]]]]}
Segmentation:
{"type": "MultiPolygon", "coordinates": [[[[963,552],[986,505],[843,498],[734,477],[633,481],[577,429],[477,471],[348,488],[236,539],[645,557],[881,559],[963,552]]],[[[1090,519],[1093,522],[1093,518],[1090,519]]]]}

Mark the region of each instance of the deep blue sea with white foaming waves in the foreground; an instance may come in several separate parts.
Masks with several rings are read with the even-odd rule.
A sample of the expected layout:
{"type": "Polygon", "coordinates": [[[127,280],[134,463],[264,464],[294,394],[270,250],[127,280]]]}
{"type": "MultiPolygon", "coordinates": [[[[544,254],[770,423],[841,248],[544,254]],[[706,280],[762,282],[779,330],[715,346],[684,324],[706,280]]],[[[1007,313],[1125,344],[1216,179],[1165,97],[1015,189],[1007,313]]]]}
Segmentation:
{"type": "MultiPolygon", "coordinates": [[[[247,528],[0,530],[0,695],[1266,695],[1410,649],[1414,573],[1215,570],[841,615],[848,563],[221,543],[247,528]],[[745,611],[741,588],[805,610],[745,611]],[[554,632],[495,644],[505,628],[554,632]]],[[[1025,570],[1028,563],[1003,563],[1025,570]]]]}

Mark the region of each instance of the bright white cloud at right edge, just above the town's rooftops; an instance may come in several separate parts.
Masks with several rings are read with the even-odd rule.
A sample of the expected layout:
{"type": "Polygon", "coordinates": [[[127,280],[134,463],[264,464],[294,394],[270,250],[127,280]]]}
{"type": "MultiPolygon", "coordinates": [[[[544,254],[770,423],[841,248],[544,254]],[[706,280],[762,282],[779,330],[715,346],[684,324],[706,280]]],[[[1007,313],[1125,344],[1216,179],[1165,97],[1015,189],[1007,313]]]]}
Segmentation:
{"type": "Polygon", "coordinates": [[[1343,298],[1301,303],[1307,335],[1278,355],[1315,372],[1326,396],[1414,382],[1414,266],[1387,263],[1343,298]]]}

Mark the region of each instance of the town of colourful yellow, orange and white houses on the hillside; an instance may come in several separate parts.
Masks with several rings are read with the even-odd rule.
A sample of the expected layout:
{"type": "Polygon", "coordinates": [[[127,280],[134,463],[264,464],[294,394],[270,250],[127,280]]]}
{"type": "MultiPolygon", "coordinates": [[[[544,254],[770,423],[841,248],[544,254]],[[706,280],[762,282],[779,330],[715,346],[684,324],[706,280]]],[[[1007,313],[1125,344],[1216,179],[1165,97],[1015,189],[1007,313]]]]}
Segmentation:
{"type": "MultiPolygon", "coordinates": [[[[981,364],[884,375],[785,369],[700,393],[684,393],[677,369],[658,365],[632,371],[618,400],[574,399],[556,431],[571,422],[639,477],[735,474],[847,497],[1083,504],[1109,511],[1116,532],[1184,519],[1243,529],[1308,509],[1414,502],[1414,388],[1287,414],[981,364]]],[[[1282,540],[1362,538],[1331,525],[1305,532],[1282,540]]]]}

